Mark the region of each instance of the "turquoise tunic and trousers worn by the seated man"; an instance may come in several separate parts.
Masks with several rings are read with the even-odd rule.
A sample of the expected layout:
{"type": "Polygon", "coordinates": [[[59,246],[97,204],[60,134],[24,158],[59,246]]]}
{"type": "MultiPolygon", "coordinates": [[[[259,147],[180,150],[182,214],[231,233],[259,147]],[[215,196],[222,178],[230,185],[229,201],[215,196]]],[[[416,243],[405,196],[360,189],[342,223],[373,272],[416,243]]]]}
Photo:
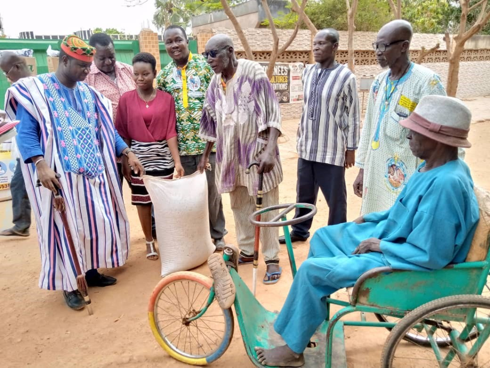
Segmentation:
{"type": "Polygon", "coordinates": [[[440,269],[464,262],[479,218],[473,182],[458,159],[410,178],[387,211],[316,231],[308,258],[298,269],[274,329],[295,352],[306,348],[326,318],[327,295],[354,285],[375,267],[440,269]],[[351,254],[368,238],[381,240],[382,253],[351,254]],[[299,300],[299,301],[298,301],[299,300]]]}

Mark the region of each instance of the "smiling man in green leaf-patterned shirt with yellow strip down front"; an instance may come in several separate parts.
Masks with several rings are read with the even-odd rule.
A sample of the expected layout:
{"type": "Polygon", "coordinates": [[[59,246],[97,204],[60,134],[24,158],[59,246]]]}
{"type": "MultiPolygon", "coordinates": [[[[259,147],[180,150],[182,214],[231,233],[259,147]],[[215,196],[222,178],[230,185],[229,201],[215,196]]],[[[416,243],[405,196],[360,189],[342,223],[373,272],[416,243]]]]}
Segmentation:
{"type": "MultiPolygon", "coordinates": [[[[201,55],[189,51],[189,40],[180,26],[170,26],[163,35],[165,48],[173,59],[157,77],[157,86],[170,93],[175,100],[177,115],[177,137],[180,161],[185,175],[200,170],[206,142],[199,138],[199,122],[213,70],[201,55]]],[[[225,216],[221,194],[215,181],[216,150],[209,156],[211,171],[206,170],[208,179],[209,227],[216,249],[223,249],[225,216]]]]}

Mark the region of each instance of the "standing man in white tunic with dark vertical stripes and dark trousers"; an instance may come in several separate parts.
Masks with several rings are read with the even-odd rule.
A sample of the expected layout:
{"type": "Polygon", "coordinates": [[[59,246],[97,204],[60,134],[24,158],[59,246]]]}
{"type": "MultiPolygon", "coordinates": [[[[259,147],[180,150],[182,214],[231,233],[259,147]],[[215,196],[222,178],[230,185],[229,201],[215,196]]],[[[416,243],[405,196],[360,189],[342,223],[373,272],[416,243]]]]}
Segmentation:
{"type": "MultiPolygon", "coordinates": [[[[315,204],[321,189],[329,208],[328,225],[346,221],[345,169],[354,166],[359,142],[356,80],[335,61],[338,41],[333,29],[322,30],[313,39],[316,64],[303,72],[304,104],[297,137],[297,202],[315,204]]],[[[306,212],[296,209],[295,217],[306,212]]],[[[293,225],[291,240],[306,240],[312,221],[293,225]]],[[[279,242],[285,242],[284,236],[279,242]]]]}

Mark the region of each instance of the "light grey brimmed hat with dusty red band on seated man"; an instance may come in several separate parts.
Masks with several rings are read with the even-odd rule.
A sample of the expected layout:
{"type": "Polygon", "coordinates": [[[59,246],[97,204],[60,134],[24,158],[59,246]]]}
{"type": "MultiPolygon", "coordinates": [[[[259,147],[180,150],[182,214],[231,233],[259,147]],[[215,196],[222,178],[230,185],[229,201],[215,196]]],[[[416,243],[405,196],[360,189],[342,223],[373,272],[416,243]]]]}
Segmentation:
{"type": "Polygon", "coordinates": [[[454,97],[422,97],[413,113],[400,124],[448,146],[471,147],[467,139],[471,111],[454,97]]]}

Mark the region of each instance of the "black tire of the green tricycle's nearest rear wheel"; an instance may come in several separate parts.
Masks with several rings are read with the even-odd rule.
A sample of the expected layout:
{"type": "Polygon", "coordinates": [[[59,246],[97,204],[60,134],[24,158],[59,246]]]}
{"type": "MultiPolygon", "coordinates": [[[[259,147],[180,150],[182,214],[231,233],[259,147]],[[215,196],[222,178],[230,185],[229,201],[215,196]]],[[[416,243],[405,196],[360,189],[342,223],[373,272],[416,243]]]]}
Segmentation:
{"type": "MultiPolygon", "coordinates": [[[[381,355],[381,367],[392,367],[396,348],[401,340],[407,339],[407,333],[412,329],[412,326],[419,323],[421,320],[432,321],[434,320],[433,318],[430,318],[432,315],[437,314],[437,312],[441,312],[442,310],[452,308],[486,308],[490,313],[490,299],[481,295],[447,296],[430,301],[412,310],[391,329],[391,332],[384,343],[381,355]]],[[[473,334],[473,332],[471,334],[473,334]]],[[[477,337],[477,334],[478,332],[475,331],[474,337],[477,337]]],[[[466,341],[469,339],[470,338],[468,337],[466,341]]],[[[418,345],[423,344],[418,343],[418,345]]]]}

